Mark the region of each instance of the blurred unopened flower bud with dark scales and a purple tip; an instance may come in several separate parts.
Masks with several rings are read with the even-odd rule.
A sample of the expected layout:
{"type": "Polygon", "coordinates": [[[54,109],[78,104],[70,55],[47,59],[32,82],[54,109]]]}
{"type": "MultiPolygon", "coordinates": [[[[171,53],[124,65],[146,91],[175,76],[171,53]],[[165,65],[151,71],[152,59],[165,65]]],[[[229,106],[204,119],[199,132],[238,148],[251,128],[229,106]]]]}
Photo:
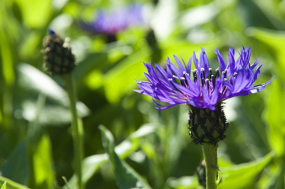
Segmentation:
{"type": "Polygon", "coordinates": [[[67,43],[54,31],[49,30],[43,41],[44,61],[46,69],[52,74],[63,75],[73,70],[75,57],[67,43]]]}

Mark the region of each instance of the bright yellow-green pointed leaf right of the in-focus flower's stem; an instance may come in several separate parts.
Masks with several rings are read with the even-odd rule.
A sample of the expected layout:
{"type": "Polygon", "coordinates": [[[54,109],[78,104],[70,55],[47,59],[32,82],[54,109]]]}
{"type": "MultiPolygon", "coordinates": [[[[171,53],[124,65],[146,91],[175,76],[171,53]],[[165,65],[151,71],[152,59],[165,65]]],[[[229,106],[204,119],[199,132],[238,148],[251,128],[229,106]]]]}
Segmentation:
{"type": "Polygon", "coordinates": [[[254,177],[264,169],[273,155],[274,153],[270,152],[264,157],[249,163],[220,168],[222,180],[219,183],[219,189],[242,189],[246,186],[252,186],[254,177]]]}

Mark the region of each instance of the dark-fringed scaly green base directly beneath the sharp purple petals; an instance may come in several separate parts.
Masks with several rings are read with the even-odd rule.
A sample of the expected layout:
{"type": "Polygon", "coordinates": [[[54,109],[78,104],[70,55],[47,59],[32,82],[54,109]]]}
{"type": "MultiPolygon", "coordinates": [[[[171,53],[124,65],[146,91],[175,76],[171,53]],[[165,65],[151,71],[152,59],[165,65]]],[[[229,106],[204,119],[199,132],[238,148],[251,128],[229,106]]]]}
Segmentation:
{"type": "Polygon", "coordinates": [[[226,138],[225,131],[229,126],[223,105],[218,103],[214,111],[200,109],[190,105],[189,111],[189,135],[195,144],[208,143],[216,145],[226,138]]]}

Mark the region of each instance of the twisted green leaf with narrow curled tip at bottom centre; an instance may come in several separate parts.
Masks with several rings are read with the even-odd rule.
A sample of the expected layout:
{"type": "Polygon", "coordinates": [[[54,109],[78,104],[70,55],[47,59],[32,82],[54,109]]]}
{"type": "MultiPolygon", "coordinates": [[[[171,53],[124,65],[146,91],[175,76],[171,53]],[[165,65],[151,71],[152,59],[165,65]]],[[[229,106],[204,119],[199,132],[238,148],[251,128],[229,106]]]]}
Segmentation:
{"type": "Polygon", "coordinates": [[[109,154],[110,163],[115,175],[117,186],[121,189],[148,188],[146,180],[140,176],[124,160],[120,159],[114,150],[114,138],[112,133],[103,125],[99,126],[102,135],[102,144],[109,154]]]}

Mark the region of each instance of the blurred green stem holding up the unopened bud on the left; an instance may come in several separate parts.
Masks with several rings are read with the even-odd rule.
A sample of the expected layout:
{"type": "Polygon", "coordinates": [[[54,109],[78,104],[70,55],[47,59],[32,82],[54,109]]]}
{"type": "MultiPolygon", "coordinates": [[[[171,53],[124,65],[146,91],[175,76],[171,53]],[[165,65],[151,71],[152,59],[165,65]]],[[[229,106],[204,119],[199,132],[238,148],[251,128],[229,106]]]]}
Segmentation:
{"type": "Polygon", "coordinates": [[[74,169],[75,175],[78,177],[78,189],[83,189],[82,183],[82,160],[83,160],[83,126],[78,124],[78,117],[76,111],[76,85],[72,77],[72,73],[64,74],[62,76],[64,80],[66,92],[70,101],[70,113],[71,113],[71,132],[74,146],[74,169]]]}

